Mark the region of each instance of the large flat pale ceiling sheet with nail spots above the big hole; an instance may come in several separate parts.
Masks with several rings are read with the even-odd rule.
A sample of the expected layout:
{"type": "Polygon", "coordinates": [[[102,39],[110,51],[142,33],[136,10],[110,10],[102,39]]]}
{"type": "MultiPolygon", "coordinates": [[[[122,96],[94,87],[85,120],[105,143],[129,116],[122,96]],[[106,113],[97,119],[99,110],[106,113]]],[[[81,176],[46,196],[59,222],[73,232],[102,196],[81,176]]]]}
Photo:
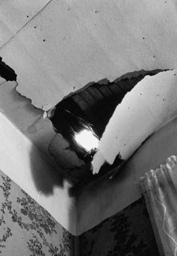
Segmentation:
{"type": "MultiPolygon", "coordinates": [[[[34,18],[0,48],[0,55],[18,75],[18,92],[37,108],[49,110],[90,81],[177,67],[175,0],[52,0],[37,15],[36,1],[30,2],[32,9],[27,2],[22,8],[33,10],[28,18],[34,18]]],[[[5,7],[4,1],[3,17],[9,17],[5,7]]],[[[21,15],[11,13],[20,27],[21,15]]],[[[5,27],[2,35],[7,37],[5,27]]]]}

